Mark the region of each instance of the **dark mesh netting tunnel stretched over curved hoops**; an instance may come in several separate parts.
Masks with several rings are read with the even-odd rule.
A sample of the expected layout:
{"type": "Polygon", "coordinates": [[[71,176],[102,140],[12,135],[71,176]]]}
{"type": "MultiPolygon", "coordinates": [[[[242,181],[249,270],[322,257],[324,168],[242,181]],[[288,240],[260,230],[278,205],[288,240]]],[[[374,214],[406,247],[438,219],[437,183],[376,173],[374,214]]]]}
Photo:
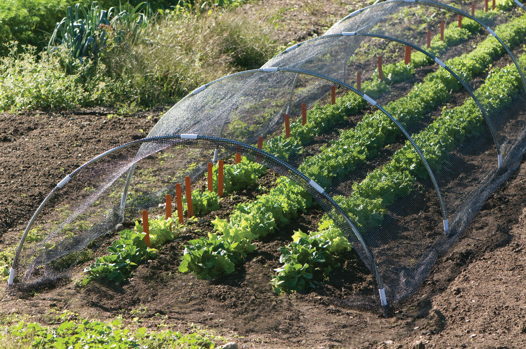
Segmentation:
{"type": "Polygon", "coordinates": [[[57,184],[27,226],[10,287],[69,277],[94,240],[239,153],[294,181],[352,243],[378,291],[349,305],[400,305],[525,152],[518,5],[377,3],[260,69],[197,88],[147,138],[57,184]],[[25,242],[29,232],[45,238],[25,242]]]}

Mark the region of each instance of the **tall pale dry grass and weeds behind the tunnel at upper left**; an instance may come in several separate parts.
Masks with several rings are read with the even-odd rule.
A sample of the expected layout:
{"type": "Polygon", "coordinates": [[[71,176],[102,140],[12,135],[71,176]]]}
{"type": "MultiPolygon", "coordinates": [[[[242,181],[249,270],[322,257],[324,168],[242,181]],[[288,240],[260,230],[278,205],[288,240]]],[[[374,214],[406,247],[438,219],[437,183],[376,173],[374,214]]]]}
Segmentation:
{"type": "Polygon", "coordinates": [[[12,43],[0,58],[0,111],[170,104],[201,84],[264,64],[277,47],[270,27],[237,9],[176,7],[136,33],[118,23],[101,28],[108,37],[98,61],[84,58],[67,73],[65,47],[48,59],[30,46],[18,53],[12,43]],[[115,40],[120,30],[128,31],[115,40]]]}

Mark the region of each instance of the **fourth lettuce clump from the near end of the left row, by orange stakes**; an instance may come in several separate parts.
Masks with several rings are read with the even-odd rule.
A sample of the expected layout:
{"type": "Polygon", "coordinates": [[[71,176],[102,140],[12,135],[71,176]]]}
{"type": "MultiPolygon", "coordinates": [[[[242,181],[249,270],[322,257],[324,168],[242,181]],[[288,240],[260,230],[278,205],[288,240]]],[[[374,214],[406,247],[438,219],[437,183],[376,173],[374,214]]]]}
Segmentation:
{"type": "MultiPolygon", "coordinates": [[[[213,186],[216,192],[218,167],[219,165],[216,164],[213,168],[213,186]]],[[[267,168],[265,166],[249,161],[246,157],[242,157],[241,162],[237,165],[227,163],[223,166],[223,192],[232,193],[247,187],[253,187],[256,185],[259,177],[266,172],[267,168]]]]}

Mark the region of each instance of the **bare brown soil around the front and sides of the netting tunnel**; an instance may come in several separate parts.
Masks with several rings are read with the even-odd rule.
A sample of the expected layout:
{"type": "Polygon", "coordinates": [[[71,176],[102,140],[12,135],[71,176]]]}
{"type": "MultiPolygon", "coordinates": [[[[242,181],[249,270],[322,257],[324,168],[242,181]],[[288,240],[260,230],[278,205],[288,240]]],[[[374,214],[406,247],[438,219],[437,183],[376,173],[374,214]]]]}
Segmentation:
{"type": "MultiPolygon", "coordinates": [[[[256,11],[262,5],[252,6],[256,11]]],[[[337,7],[330,6],[327,12],[337,7]]],[[[294,17],[289,12],[284,12],[283,20],[294,17]]],[[[301,40],[325,24],[301,16],[307,22],[305,29],[284,28],[284,37],[295,34],[301,40]]],[[[143,138],[164,110],[109,120],[107,115],[114,110],[105,107],[1,114],[0,249],[18,243],[31,214],[67,173],[106,149],[143,138]]],[[[176,272],[184,242],[197,236],[197,228],[211,231],[203,223],[182,241],[165,245],[156,260],[140,265],[134,277],[121,285],[94,282],[79,288],[72,281],[32,295],[2,291],[0,312],[34,315],[34,321],[42,323],[53,323],[57,310],[103,320],[122,315],[124,322],[147,327],[163,323],[184,330],[195,323],[215,329],[239,347],[526,347],[525,159],[488,199],[459,242],[437,261],[420,290],[387,319],[345,305],[351,294],[376,292],[372,275],[353,252],[342,256],[341,268],[316,290],[292,295],[271,291],[269,280],[279,266],[278,248],[291,241],[292,231],[317,226],[323,211],[316,206],[258,241],[256,252],[225,278],[197,280],[176,272]]],[[[267,187],[272,180],[271,172],[262,178],[267,187]]],[[[227,215],[234,204],[256,194],[251,189],[239,198],[225,199],[222,211],[210,213],[207,220],[227,215]]],[[[426,224],[415,220],[414,229],[427,229],[426,224]]],[[[111,241],[95,253],[103,253],[111,241]]],[[[73,278],[84,266],[78,266],[73,278]]]]}

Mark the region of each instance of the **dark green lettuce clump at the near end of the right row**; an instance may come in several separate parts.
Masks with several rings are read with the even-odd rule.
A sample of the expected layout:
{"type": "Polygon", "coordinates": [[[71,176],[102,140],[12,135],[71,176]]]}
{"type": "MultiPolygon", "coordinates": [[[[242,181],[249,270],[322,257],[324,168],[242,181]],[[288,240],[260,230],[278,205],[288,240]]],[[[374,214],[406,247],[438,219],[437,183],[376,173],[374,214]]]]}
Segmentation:
{"type": "Polygon", "coordinates": [[[270,281],[274,291],[301,291],[309,286],[315,289],[313,280],[321,280],[333,268],[340,266],[332,259],[329,245],[329,241],[323,241],[319,237],[300,237],[287,247],[281,247],[279,262],[284,265],[275,269],[276,275],[270,281]]]}

